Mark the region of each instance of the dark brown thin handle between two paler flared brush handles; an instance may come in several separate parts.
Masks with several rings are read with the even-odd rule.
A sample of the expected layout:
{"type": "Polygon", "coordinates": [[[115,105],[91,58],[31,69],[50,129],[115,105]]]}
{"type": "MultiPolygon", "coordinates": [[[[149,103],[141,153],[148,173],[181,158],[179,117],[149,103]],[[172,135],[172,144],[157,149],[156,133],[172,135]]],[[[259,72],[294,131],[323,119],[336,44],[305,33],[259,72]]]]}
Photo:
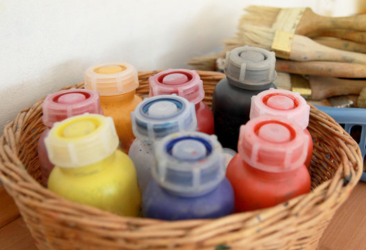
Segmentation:
{"type": "Polygon", "coordinates": [[[309,38],[326,36],[366,44],[366,32],[363,31],[351,31],[337,28],[328,30],[317,30],[314,31],[313,33],[308,33],[306,36],[309,38]]]}

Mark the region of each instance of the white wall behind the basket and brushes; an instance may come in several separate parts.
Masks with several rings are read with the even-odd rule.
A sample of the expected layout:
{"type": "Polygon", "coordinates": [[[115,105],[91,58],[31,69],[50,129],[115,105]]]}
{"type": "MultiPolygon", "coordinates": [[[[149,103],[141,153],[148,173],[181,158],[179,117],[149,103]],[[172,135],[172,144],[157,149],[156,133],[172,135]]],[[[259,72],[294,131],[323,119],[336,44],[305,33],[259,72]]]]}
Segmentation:
{"type": "MultiPolygon", "coordinates": [[[[189,58],[234,35],[250,4],[322,10],[319,0],[0,0],[0,135],[19,110],[82,81],[90,65],[188,67],[189,58]]],[[[339,6],[340,14],[350,11],[339,6]]]]}

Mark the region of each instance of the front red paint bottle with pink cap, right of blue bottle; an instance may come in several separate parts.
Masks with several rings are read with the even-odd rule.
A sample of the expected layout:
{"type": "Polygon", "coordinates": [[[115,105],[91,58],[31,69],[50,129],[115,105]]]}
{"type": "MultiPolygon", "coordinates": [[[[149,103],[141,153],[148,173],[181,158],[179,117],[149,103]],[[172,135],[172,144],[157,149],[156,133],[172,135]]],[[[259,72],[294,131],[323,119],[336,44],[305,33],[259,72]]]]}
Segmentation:
{"type": "Polygon", "coordinates": [[[295,122],[260,116],[240,127],[239,153],[226,169],[235,212],[275,206],[310,192],[303,164],[308,135],[295,122]]]}

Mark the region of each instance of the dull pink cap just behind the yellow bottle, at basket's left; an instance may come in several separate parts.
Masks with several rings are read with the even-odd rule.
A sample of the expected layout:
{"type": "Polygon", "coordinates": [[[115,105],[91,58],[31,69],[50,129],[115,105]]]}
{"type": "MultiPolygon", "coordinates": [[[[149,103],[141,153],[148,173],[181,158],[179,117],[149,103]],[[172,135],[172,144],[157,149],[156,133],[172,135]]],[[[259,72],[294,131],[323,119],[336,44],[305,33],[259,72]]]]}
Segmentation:
{"type": "Polygon", "coordinates": [[[44,99],[43,124],[51,128],[55,122],[84,113],[103,115],[99,92],[94,90],[72,89],[49,94],[44,99]]]}

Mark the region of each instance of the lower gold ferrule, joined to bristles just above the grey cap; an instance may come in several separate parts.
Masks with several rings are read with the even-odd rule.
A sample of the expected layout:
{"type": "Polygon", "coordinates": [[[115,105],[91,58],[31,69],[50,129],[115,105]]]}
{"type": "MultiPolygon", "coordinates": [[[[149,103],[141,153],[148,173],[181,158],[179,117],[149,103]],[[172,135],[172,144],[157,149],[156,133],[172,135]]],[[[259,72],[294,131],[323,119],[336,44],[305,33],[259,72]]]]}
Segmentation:
{"type": "Polygon", "coordinates": [[[286,31],[276,31],[272,42],[272,51],[278,58],[290,59],[290,52],[294,34],[286,31]]]}

